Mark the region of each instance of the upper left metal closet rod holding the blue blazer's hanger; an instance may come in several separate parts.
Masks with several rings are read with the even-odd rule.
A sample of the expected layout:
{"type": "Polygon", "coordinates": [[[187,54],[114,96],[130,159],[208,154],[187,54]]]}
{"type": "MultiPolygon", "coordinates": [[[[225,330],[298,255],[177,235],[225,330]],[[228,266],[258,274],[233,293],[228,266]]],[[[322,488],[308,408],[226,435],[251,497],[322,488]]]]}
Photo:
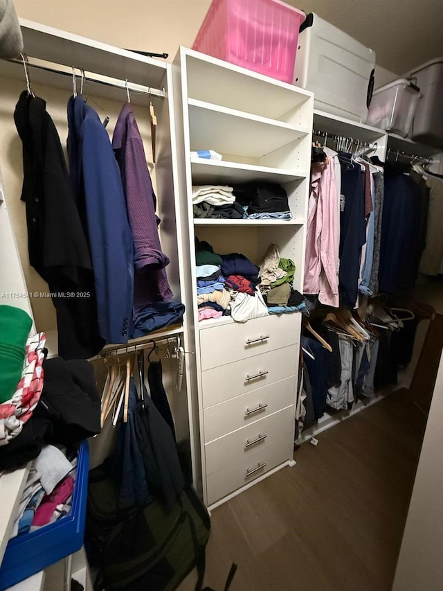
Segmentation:
{"type": "MultiPolygon", "coordinates": [[[[23,62],[19,58],[12,58],[7,60],[8,62],[12,62],[14,64],[20,64],[21,67],[24,66],[23,62]]],[[[28,58],[27,65],[30,68],[36,68],[39,70],[44,70],[46,72],[53,72],[57,74],[62,74],[62,76],[73,76],[73,69],[70,66],[65,66],[64,64],[55,64],[54,62],[47,62],[46,60],[39,60],[38,58],[28,58]],[[33,61],[31,61],[33,60],[33,61]]],[[[82,78],[82,71],[80,68],[75,67],[79,73],[76,75],[78,78],[82,78]]],[[[149,86],[138,85],[133,82],[126,82],[126,80],[119,80],[118,78],[111,78],[109,76],[103,76],[102,74],[94,73],[94,72],[84,72],[84,80],[88,80],[89,82],[97,82],[98,84],[103,84],[106,86],[111,86],[114,88],[120,88],[123,90],[128,89],[131,92],[136,92],[138,94],[145,94],[147,96],[159,96],[160,98],[165,97],[165,89],[158,89],[152,88],[149,86]]]]}

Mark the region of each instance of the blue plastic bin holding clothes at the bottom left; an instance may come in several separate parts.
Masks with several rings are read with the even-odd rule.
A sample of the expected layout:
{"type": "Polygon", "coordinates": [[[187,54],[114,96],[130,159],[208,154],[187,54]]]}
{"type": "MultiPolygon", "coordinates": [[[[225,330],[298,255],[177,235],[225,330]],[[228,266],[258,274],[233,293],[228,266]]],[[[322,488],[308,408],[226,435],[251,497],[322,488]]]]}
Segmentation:
{"type": "Polygon", "coordinates": [[[0,591],[80,550],[86,520],[89,446],[82,441],[71,513],[24,536],[12,538],[0,567],[0,591]]]}

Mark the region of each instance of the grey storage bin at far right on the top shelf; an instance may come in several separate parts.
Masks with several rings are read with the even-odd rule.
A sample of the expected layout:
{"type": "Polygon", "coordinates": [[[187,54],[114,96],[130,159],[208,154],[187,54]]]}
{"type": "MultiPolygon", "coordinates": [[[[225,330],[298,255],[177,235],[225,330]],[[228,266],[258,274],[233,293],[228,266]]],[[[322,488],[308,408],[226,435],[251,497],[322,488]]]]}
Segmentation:
{"type": "Polygon", "coordinates": [[[443,148],[443,58],[417,66],[404,77],[414,82],[421,94],[410,136],[415,141],[443,148]]]}

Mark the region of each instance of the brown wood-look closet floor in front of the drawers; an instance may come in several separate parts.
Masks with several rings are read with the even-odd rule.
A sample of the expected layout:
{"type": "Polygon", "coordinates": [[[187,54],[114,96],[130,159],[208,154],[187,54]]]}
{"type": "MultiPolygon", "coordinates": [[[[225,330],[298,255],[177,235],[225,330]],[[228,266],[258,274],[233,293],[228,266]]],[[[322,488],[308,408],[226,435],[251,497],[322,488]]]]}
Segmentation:
{"type": "Polygon", "coordinates": [[[408,394],[304,443],[297,466],[215,509],[205,583],[222,591],[235,562],[231,591],[390,591],[426,423],[408,394]]]}

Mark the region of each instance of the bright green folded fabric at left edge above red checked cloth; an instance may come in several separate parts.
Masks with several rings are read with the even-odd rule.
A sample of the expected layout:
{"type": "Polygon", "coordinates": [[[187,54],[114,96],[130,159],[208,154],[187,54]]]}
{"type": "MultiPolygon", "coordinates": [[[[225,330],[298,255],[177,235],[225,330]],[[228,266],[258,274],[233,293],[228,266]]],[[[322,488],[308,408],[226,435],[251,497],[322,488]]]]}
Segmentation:
{"type": "Polygon", "coordinates": [[[0,404],[15,394],[33,321],[21,308],[0,306],[0,404]]]}

